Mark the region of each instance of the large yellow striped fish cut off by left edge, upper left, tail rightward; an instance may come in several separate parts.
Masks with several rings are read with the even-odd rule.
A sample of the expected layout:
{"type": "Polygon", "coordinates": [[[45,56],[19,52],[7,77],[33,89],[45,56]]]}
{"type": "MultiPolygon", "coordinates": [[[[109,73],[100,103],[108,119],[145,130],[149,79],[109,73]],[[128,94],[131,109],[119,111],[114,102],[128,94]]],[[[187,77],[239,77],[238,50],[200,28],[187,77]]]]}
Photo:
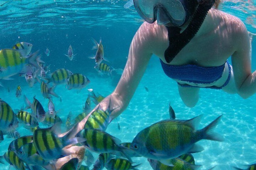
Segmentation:
{"type": "Polygon", "coordinates": [[[9,80],[10,76],[25,72],[26,65],[30,64],[36,68],[40,68],[37,62],[44,63],[40,60],[41,55],[37,55],[39,51],[24,57],[18,50],[2,49],[0,50],[0,79],[9,80]]]}

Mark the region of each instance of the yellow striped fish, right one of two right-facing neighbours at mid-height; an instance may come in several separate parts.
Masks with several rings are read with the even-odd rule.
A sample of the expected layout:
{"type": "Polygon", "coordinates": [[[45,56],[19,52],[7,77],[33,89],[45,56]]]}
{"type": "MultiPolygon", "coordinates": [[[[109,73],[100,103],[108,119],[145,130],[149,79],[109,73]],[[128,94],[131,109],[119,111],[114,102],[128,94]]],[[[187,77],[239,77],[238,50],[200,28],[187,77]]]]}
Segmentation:
{"type": "Polygon", "coordinates": [[[82,88],[85,88],[89,83],[90,83],[90,80],[87,77],[85,77],[84,75],[72,74],[69,77],[69,81],[68,81],[66,88],[68,90],[71,90],[74,88],[82,89],[82,88]]]}

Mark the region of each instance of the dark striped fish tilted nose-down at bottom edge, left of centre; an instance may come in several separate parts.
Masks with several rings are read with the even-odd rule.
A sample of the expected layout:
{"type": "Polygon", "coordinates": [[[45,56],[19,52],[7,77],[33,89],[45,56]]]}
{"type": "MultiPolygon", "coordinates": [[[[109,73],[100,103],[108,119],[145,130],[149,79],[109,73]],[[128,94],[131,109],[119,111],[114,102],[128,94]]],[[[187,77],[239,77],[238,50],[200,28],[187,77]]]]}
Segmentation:
{"type": "Polygon", "coordinates": [[[102,170],[112,158],[114,158],[114,156],[110,153],[99,154],[97,160],[93,164],[92,170],[102,170]]]}

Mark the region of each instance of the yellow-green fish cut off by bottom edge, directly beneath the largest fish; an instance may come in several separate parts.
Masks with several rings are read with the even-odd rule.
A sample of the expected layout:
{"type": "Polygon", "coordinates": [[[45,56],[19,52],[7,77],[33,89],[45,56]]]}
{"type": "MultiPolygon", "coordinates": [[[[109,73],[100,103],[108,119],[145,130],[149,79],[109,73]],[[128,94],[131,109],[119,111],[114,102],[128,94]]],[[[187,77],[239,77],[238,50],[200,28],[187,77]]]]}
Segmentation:
{"type": "Polygon", "coordinates": [[[201,166],[201,165],[190,164],[180,158],[174,158],[169,160],[169,163],[173,166],[165,165],[160,161],[154,160],[154,159],[148,159],[148,161],[151,167],[153,168],[153,170],[174,170],[174,169],[194,170],[194,169],[198,169],[201,166]]]}

